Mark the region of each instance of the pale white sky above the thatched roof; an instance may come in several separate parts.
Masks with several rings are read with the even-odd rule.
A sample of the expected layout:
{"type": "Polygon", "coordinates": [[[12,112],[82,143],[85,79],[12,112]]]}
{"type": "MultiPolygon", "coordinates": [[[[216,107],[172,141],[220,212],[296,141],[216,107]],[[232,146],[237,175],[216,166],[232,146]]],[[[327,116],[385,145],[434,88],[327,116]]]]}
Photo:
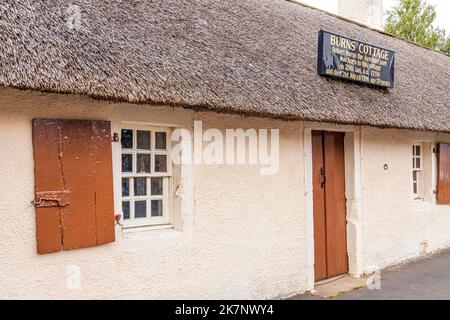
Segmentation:
{"type": "MultiPolygon", "coordinates": [[[[311,6],[327,10],[337,14],[338,0],[300,0],[311,6]]],[[[383,0],[384,11],[392,8],[399,0],[383,0]]],[[[449,0],[426,0],[436,7],[435,26],[446,30],[450,34],[450,1],[449,0]]]]}

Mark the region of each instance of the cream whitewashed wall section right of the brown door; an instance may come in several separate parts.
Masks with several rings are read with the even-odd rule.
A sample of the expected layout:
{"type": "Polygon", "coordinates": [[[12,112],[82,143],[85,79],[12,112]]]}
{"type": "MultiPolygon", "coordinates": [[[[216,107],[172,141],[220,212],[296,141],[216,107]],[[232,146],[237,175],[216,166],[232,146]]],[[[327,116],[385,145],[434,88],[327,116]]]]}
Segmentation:
{"type": "MultiPolygon", "coordinates": [[[[411,144],[450,136],[406,130],[363,130],[363,261],[365,271],[450,246],[450,205],[411,197],[411,144]],[[388,164],[389,170],[383,169],[388,164]]],[[[435,157],[435,155],[431,156],[435,157]]],[[[432,179],[435,185],[435,179],[432,179]]],[[[430,182],[431,185],[431,182],[430,182]]]]}

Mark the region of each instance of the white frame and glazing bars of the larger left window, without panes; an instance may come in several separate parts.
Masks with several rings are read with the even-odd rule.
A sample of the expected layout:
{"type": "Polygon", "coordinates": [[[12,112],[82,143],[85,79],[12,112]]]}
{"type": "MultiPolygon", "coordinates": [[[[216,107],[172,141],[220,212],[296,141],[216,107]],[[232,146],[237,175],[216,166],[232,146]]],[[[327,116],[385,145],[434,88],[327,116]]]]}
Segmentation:
{"type": "Polygon", "coordinates": [[[159,227],[170,227],[172,224],[172,178],[173,178],[173,164],[171,155],[171,141],[170,135],[172,132],[171,128],[160,127],[155,125],[146,124],[131,124],[131,123],[121,123],[119,128],[119,139],[121,139],[121,134],[123,129],[133,130],[133,148],[123,149],[122,143],[119,141],[119,190],[117,196],[120,198],[120,211],[122,212],[122,201],[129,201],[130,203],[130,219],[124,219],[122,212],[122,228],[124,230],[132,229],[151,229],[159,227]],[[150,150],[140,150],[137,149],[137,130],[150,131],[150,150]],[[166,150],[156,150],[155,149],[155,132],[165,132],[166,133],[166,150]],[[136,169],[136,155],[140,154],[150,154],[150,173],[128,173],[122,172],[122,154],[132,154],[133,155],[133,168],[136,169]],[[155,155],[166,155],[167,156],[167,172],[155,172],[155,155]],[[134,178],[145,177],[147,178],[147,195],[146,196],[134,196],[134,178]],[[122,178],[129,178],[129,196],[122,196],[122,178]],[[162,178],[163,179],[163,195],[162,196],[152,196],[151,195],[151,178],[162,178]],[[134,218],[134,201],[147,200],[147,216],[146,218],[134,218]],[[163,201],[163,216],[152,217],[151,216],[151,200],[162,200],[163,201]]]}

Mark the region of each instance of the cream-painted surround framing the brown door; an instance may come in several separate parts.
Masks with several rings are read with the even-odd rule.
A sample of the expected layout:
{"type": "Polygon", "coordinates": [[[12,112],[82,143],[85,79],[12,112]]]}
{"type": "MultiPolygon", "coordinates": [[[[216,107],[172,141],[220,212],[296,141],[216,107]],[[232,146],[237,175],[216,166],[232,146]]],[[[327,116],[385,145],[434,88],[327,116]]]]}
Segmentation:
{"type": "Polygon", "coordinates": [[[312,176],[312,131],[345,132],[345,194],[347,198],[347,254],[349,274],[359,277],[363,274],[362,263],[362,132],[356,126],[340,126],[332,124],[305,123],[304,138],[304,170],[306,191],[307,219],[307,265],[308,288],[313,289],[314,276],[314,208],[313,208],[313,176],[312,176]]]}

